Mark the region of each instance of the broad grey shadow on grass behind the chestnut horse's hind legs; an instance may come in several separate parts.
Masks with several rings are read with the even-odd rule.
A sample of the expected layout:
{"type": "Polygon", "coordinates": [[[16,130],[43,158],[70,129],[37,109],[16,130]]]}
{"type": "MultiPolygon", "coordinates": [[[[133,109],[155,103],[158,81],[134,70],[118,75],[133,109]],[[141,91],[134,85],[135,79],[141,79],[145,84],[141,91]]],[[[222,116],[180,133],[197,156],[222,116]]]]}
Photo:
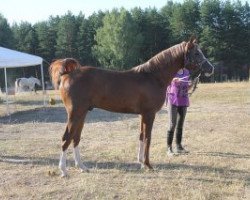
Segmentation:
{"type": "MultiPolygon", "coordinates": [[[[138,115],[113,113],[101,109],[94,109],[88,112],[85,123],[113,122],[135,117],[138,117],[138,115]]],[[[0,123],[6,124],[22,124],[27,122],[66,123],[66,121],[67,113],[64,107],[35,108],[15,112],[10,116],[0,117],[0,123]]]]}

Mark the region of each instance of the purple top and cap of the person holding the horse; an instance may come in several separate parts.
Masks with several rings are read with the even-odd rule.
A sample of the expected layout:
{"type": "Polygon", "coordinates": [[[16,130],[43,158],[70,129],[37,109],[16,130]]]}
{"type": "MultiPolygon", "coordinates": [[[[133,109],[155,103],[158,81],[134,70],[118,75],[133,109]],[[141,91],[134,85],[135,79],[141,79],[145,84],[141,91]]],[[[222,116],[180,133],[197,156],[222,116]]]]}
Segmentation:
{"type": "Polygon", "coordinates": [[[183,70],[183,74],[176,74],[175,78],[181,78],[179,82],[172,81],[167,88],[168,103],[175,106],[189,106],[188,97],[188,79],[189,71],[187,69],[183,70]]]}

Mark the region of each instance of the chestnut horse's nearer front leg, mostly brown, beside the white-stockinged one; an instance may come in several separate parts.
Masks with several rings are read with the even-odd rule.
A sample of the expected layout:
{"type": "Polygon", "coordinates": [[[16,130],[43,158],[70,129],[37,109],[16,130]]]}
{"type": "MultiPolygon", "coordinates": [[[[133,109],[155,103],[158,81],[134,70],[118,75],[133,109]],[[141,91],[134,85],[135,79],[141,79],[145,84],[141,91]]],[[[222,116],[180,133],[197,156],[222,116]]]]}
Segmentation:
{"type": "Polygon", "coordinates": [[[155,119],[155,113],[147,113],[142,115],[142,129],[143,129],[143,147],[144,147],[144,161],[143,167],[153,169],[149,162],[149,150],[151,143],[151,132],[153,128],[153,122],[155,119]]]}

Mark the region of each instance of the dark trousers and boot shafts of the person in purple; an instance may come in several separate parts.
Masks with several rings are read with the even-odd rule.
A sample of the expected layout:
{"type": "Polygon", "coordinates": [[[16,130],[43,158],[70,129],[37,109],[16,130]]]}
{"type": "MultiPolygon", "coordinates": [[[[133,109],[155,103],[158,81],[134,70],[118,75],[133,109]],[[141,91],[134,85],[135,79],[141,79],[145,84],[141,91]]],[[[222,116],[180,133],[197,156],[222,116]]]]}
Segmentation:
{"type": "Polygon", "coordinates": [[[167,132],[167,145],[172,146],[174,131],[176,130],[176,145],[181,146],[183,125],[187,113],[186,106],[175,106],[168,104],[169,129],[167,132]]]}

